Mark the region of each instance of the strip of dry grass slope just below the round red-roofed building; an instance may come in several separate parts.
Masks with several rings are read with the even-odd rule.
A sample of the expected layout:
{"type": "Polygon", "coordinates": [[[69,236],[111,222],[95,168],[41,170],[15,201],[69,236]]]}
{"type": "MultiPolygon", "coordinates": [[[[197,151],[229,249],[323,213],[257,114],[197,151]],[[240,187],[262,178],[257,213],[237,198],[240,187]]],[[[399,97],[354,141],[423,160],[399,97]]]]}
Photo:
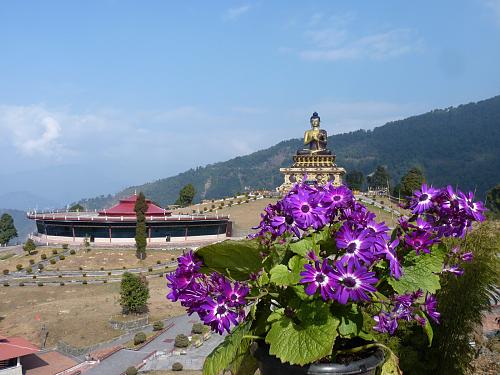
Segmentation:
{"type": "Polygon", "coordinates": [[[161,263],[170,262],[172,257],[177,258],[180,251],[168,251],[159,249],[147,249],[145,260],[139,260],[135,256],[134,249],[92,249],[88,253],[78,250],[75,255],[68,255],[64,260],[58,260],[56,264],[48,264],[47,270],[104,270],[126,268],[144,268],[153,266],[157,261],[161,263]]]}

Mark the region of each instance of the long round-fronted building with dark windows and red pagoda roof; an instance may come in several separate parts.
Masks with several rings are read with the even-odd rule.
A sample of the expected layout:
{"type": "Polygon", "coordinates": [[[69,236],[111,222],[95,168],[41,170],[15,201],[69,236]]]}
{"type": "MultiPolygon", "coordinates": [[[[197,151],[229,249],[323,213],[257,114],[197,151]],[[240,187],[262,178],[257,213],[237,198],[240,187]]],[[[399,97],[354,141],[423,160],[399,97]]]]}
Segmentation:
{"type": "MultiPolygon", "coordinates": [[[[121,199],[115,206],[99,212],[28,212],[35,220],[35,241],[41,243],[134,244],[137,217],[134,211],[137,196],[121,199]]],[[[148,243],[213,240],[231,237],[232,223],[221,215],[173,215],[151,200],[146,200],[148,243]]]]}

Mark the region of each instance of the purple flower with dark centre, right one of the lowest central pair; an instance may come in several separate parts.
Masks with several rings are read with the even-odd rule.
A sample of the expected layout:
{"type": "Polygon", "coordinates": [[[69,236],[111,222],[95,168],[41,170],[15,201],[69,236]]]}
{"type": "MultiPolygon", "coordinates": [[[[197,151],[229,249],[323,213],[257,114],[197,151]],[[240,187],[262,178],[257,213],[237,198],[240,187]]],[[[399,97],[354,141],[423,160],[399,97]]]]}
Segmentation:
{"type": "Polygon", "coordinates": [[[353,301],[370,301],[366,292],[375,292],[372,284],[378,282],[375,272],[368,272],[364,267],[354,269],[352,263],[344,267],[342,262],[335,263],[336,269],[332,272],[335,282],[334,298],[341,304],[346,304],[348,299],[353,301]]]}

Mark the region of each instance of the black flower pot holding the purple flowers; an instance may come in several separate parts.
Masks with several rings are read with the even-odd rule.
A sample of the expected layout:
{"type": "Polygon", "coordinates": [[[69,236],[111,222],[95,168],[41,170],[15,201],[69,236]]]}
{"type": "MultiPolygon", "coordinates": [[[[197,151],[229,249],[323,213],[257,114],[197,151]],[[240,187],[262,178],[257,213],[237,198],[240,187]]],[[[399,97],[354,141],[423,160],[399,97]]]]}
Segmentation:
{"type": "Polygon", "coordinates": [[[261,375],[375,375],[377,367],[384,362],[384,352],[378,348],[368,357],[346,364],[317,363],[297,366],[281,363],[278,358],[269,354],[267,345],[259,345],[254,356],[259,361],[261,375]]]}

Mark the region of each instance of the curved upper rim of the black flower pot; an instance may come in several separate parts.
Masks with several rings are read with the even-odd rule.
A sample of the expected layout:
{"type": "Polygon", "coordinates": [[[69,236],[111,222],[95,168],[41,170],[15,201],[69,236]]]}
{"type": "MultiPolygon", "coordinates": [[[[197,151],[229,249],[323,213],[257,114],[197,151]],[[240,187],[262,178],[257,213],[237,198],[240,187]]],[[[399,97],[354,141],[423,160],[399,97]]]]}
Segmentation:
{"type": "Polygon", "coordinates": [[[283,366],[291,366],[293,368],[302,367],[308,375],[321,375],[321,374],[363,374],[380,366],[385,359],[384,351],[380,348],[375,348],[373,353],[362,359],[358,359],[346,364],[342,363],[314,363],[304,366],[291,365],[289,363],[282,363],[279,358],[269,354],[269,346],[259,343],[255,350],[254,356],[261,362],[277,362],[283,366]]]}

